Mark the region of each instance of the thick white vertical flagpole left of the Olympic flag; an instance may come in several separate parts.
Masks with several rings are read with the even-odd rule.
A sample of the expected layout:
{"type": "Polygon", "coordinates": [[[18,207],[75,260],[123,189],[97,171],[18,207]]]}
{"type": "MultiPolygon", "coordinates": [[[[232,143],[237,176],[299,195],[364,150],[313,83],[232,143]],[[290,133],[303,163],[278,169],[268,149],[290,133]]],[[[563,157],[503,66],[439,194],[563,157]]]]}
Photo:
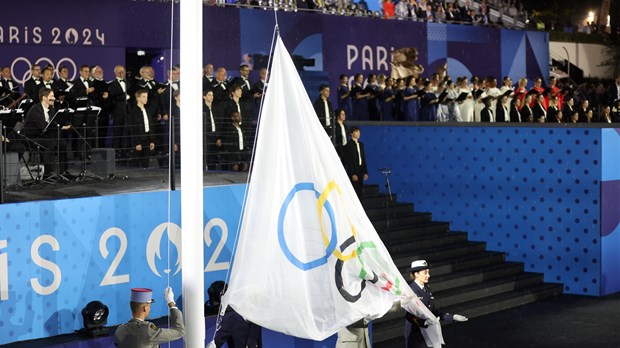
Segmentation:
{"type": "MultiPolygon", "coordinates": [[[[202,177],[202,1],[180,1],[181,226],[185,347],[205,346],[202,177]]],[[[171,170],[173,170],[171,168],[171,170]]]]}

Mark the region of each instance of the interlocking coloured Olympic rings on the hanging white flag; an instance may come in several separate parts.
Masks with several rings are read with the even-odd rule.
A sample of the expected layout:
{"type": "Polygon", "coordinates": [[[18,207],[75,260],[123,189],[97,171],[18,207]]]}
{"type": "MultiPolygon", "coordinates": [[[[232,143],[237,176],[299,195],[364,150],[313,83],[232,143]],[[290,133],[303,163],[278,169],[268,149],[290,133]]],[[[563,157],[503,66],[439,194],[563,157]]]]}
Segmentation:
{"type": "MultiPolygon", "coordinates": [[[[334,208],[329,201],[330,194],[336,191],[336,193],[340,196],[341,191],[335,181],[329,182],[325,190],[323,192],[319,192],[316,190],[313,183],[304,182],[298,183],[293,186],[291,191],[287,194],[284,202],[282,203],[282,207],[280,208],[280,213],[278,215],[278,242],[280,244],[280,248],[284,253],[284,256],[291,262],[295,267],[299,268],[302,271],[309,271],[314,268],[323,266],[327,264],[329,257],[334,255],[336,257],[335,263],[335,283],[336,288],[338,289],[341,296],[348,302],[356,302],[361,298],[362,292],[366,288],[367,282],[375,284],[379,288],[385,291],[392,292],[396,295],[400,295],[401,290],[401,282],[399,277],[392,277],[386,275],[383,272],[377,274],[373,270],[372,262],[368,262],[366,260],[366,255],[373,253],[375,255],[371,255],[368,260],[373,260],[373,256],[377,254],[377,246],[372,241],[367,242],[358,242],[358,233],[353,225],[351,219],[347,216],[350,228],[351,228],[351,236],[347,238],[342,244],[338,246],[338,231],[337,231],[337,223],[336,223],[336,214],[334,212],[334,208]],[[289,248],[284,231],[284,220],[286,218],[286,213],[289,209],[289,206],[293,199],[295,199],[296,195],[302,191],[310,191],[314,194],[317,200],[317,213],[319,216],[319,224],[321,229],[321,239],[323,245],[325,246],[325,254],[321,255],[318,258],[315,258],[310,261],[302,261],[297,256],[293,254],[291,249],[289,248]],[[323,221],[323,211],[327,213],[327,216],[330,220],[331,225],[331,234],[328,236],[325,230],[325,224],[323,221]],[[353,248],[353,250],[345,254],[346,250],[349,248],[353,248]],[[352,293],[347,289],[345,284],[343,270],[345,267],[345,262],[357,260],[359,265],[356,265],[360,268],[359,273],[357,274],[357,279],[360,281],[359,291],[357,293],[352,293]]],[[[350,273],[349,273],[350,274],[350,273]]]]}

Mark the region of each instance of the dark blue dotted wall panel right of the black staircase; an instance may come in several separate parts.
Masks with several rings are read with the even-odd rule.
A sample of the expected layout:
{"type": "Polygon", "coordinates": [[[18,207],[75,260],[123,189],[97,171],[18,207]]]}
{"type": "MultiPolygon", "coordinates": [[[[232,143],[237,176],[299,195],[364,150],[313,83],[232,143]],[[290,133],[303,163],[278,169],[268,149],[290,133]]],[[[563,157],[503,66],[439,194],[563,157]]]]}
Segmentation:
{"type": "Polygon", "coordinates": [[[370,182],[569,294],[620,291],[617,129],[362,127],[370,182]]]}

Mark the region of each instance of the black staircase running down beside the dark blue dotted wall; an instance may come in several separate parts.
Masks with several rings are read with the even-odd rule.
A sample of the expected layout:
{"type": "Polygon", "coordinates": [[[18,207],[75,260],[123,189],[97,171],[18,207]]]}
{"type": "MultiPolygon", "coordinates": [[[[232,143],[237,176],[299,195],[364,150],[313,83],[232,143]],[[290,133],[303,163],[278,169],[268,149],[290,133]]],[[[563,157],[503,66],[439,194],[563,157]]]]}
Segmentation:
{"type": "MultiPolygon", "coordinates": [[[[542,274],[525,272],[523,263],[506,261],[504,253],[486,250],[485,242],[469,241],[467,232],[451,231],[431,213],[415,212],[413,204],[392,197],[386,209],[387,195],[379,186],[365,186],[366,214],[408,282],[412,261],[431,264],[429,285],[442,311],[473,318],[562,294],[562,284],[544,283],[542,274]]],[[[388,313],[373,321],[373,347],[402,346],[404,316],[388,313]]]]}

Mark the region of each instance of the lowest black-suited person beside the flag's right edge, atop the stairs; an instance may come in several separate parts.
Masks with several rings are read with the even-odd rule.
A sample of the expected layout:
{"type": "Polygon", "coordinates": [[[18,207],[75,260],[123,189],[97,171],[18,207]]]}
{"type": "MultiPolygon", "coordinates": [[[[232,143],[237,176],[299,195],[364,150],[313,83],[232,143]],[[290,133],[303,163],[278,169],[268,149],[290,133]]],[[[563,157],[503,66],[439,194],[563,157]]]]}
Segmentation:
{"type": "Polygon", "coordinates": [[[368,180],[368,167],[366,166],[366,151],[364,144],[359,141],[361,131],[359,127],[352,126],[349,129],[351,140],[344,146],[344,168],[351,179],[357,197],[364,197],[364,181],[368,180]]]}

